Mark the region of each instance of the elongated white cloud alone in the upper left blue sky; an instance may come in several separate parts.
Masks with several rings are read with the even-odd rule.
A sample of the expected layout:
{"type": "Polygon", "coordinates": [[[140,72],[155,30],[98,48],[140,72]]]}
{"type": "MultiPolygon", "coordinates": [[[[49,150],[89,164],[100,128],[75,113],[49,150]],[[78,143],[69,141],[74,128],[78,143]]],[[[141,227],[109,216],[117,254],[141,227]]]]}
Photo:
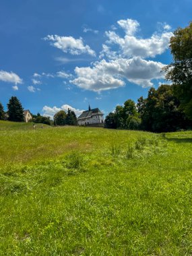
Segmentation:
{"type": "Polygon", "coordinates": [[[51,41],[51,45],[60,49],[64,53],[70,53],[71,55],[80,55],[82,53],[87,53],[92,56],[96,56],[96,53],[90,49],[88,44],[84,45],[83,39],[75,39],[72,36],[57,36],[48,35],[44,40],[51,41]]]}

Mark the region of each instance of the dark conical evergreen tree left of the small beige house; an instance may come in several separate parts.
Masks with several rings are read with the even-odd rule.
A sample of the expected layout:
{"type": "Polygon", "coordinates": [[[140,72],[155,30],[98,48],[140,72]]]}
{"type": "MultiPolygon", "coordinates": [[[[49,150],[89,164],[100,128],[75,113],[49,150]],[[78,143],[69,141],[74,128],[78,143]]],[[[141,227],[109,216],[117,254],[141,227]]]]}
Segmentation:
{"type": "Polygon", "coordinates": [[[7,115],[9,121],[24,121],[24,108],[17,97],[12,96],[7,104],[7,115]]]}

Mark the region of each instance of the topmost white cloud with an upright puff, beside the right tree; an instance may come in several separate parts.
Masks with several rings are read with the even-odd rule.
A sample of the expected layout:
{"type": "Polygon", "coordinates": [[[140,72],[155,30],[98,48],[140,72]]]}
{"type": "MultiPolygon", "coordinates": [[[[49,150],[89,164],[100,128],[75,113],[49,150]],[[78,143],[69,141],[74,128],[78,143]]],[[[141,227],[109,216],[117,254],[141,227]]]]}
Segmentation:
{"type": "MultiPolygon", "coordinates": [[[[155,57],[160,55],[168,49],[170,37],[172,32],[162,32],[162,34],[152,34],[150,38],[137,38],[134,34],[137,32],[139,23],[135,20],[119,20],[117,22],[123,30],[125,30],[125,37],[121,38],[116,32],[108,31],[106,36],[107,44],[119,45],[121,55],[123,57],[155,57]]],[[[164,28],[168,28],[165,24],[164,28]]]]}

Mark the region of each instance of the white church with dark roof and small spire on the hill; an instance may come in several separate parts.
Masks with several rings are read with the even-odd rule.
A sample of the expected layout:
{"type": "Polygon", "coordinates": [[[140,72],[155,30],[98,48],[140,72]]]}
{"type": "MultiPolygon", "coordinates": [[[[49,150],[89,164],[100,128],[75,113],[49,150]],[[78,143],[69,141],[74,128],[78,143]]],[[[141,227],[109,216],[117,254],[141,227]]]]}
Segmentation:
{"type": "Polygon", "coordinates": [[[77,118],[77,125],[104,127],[103,113],[98,108],[91,109],[89,106],[89,109],[77,118]]]}

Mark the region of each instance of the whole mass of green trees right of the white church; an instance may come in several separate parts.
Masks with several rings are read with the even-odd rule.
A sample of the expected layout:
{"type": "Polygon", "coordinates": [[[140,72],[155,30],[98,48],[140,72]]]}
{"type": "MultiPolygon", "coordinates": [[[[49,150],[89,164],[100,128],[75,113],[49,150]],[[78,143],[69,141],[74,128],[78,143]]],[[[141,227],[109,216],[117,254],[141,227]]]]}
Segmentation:
{"type": "Polygon", "coordinates": [[[167,81],[148,97],[125,101],[105,119],[106,127],[146,131],[177,131],[192,127],[192,22],[170,38],[172,63],[163,68],[167,81]]]}

